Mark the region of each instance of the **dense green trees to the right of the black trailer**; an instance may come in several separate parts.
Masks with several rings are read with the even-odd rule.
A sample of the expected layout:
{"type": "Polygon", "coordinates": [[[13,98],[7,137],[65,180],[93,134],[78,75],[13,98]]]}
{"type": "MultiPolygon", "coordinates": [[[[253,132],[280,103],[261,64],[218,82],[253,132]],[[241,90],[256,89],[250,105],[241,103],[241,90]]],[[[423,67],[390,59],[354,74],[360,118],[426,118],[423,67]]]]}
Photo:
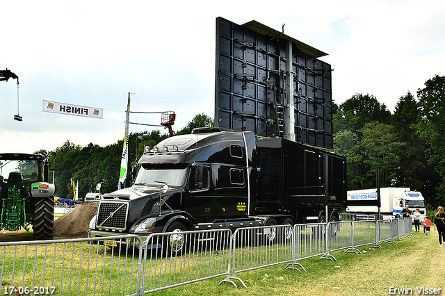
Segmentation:
{"type": "Polygon", "coordinates": [[[432,207],[445,204],[445,76],[416,97],[398,98],[394,113],[371,94],[333,106],[334,151],[347,157],[348,190],[410,187],[432,207]]]}

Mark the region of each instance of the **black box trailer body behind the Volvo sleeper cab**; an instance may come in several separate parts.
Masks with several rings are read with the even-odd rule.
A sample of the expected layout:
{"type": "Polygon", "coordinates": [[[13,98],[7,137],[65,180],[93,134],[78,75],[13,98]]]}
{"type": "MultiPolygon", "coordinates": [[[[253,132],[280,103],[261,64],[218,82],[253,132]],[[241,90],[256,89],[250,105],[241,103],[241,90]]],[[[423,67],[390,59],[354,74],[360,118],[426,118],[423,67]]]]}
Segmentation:
{"type": "Polygon", "coordinates": [[[346,159],[282,138],[257,141],[256,212],[283,213],[346,201],[346,159]]]}

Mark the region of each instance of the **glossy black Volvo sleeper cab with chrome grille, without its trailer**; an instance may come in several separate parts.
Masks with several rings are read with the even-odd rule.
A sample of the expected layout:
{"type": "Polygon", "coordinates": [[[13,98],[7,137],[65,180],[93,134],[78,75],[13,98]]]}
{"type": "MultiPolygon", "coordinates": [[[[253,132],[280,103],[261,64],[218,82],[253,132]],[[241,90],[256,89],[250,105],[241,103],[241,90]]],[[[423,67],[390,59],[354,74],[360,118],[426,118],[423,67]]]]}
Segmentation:
{"type": "Polygon", "coordinates": [[[213,130],[163,140],[140,158],[131,188],[104,194],[90,235],[238,227],[254,206],[254,141],[213,130]]]}

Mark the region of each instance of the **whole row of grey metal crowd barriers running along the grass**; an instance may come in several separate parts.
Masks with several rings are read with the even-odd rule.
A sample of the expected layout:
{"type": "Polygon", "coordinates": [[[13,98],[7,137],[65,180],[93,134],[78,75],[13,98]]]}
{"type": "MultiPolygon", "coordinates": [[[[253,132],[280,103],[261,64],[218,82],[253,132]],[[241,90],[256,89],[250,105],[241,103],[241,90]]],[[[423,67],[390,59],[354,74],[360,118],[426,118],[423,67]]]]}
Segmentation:
{"type": "Polygon", "coordinates": [[[341,221],[138,236],[0,242],[3,295],[145,295],[187,283],[225,277],[337,250],[360,253],[412,234],[412,219],[341,221]],[[4,289],[4,290],[3,290],[4,289]]]}

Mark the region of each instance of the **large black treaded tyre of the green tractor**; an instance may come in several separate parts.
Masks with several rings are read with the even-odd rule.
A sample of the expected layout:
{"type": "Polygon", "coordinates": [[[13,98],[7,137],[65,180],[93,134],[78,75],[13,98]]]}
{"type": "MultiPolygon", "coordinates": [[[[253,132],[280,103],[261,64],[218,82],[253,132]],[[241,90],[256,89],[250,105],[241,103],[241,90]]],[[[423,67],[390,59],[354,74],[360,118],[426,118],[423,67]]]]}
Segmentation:
{"type": "Polygon", "coordinates": [[[54,197],[38,198],[34,204],[35,240],[52,240],[54,236],[54,197]]]}

